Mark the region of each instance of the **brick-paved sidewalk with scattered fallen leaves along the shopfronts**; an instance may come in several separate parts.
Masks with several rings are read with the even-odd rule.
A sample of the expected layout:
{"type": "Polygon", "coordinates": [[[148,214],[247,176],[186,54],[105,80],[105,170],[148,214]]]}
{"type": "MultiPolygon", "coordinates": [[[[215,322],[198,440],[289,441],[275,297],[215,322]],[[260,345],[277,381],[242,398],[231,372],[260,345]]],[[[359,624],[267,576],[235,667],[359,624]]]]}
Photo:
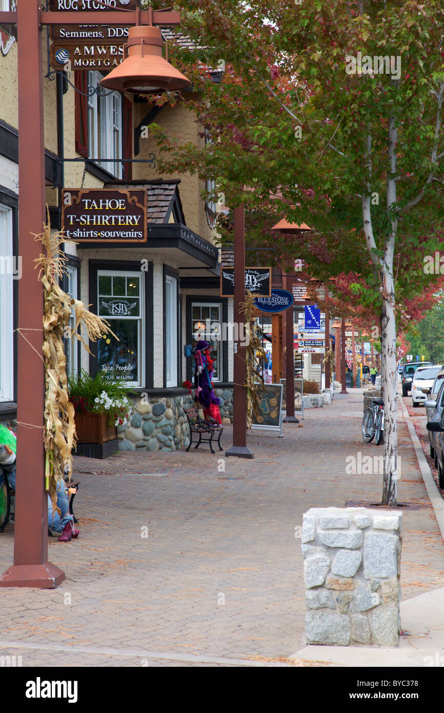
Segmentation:
{"type": "MultiPolygon", "coordinates": [[[[302,513],[381,499],[381,476],[346,475],[347,456],[381,453],[361,439],[361,404],[352,389],[284,438],[250,436],[252,461],[202,448],[76,458],[81,535],[49,544],[66,581],[0,590],[0,654],[43,666],[285,663],[304,629],[302,513]]],[[[408,598],[443,586],[444,547],[402,419],[399,438],[408,598]]],[[[12,543],[8,526],[1,570],[12,543]]]]}

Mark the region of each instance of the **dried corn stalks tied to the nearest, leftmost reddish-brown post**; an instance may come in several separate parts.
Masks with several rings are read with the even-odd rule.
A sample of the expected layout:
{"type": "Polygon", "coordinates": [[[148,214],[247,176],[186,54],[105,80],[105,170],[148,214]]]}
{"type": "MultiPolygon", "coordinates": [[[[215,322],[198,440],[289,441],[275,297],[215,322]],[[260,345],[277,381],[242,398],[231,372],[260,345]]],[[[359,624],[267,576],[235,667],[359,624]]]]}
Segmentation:
{"type": "MultiPolygon", "coordinates": [[[[49,223],[43,226],[43,232],[35,239],[43,244],[43,253],[35,261],[40,266],[38,279],[43,284],[43,356],[45,364],[45,411],[43,421],[43,442],[46,461],[46,491],[53,506],[56,506],[57,482],[63,479],[66,466],[71,479],[73,457],[71,451],[76,446],[76,426],[74,406],[69,401],[66,379],[66,356],[63,338],[80,340],[87,351],[91,351],[82,334],[77,334],[78,327],[84,326],[88,338],[95,342],[104,333],[111,332],[108,322],[100,319],[86,309],[83,302],[71,299],[58,284],[65,273],[67,258],[61,250],[67,240],[63,232],[53,232],[49,223]],[[71,314],[75,315],[75,326],[69,327],[71,314]]],[[[115,334],[113,334],[115,337],[115,334]]],[[[115,337],[117,339],[117,337],[115,337]]]]}

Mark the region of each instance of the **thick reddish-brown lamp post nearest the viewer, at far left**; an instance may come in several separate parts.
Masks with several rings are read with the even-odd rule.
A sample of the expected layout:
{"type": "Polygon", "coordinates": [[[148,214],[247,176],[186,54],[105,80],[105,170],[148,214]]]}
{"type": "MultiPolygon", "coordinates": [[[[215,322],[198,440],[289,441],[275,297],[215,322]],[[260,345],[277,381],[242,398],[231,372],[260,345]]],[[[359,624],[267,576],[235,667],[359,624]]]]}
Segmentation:
{"type": "MultiPolygon", "coordinates": [[[[17,465],[14,565],[2,587],[50,589],[65,575],[48,562],[48,496],[43,448],[43,287],[35,269],[42,246],[32,233],[45,221],[43,80],[40,0],[17,3],[19,75],[19,280],[17,465]]],[[[11,345],[10,345],[11,346],[11,345]]],[[[4,347],[2,347],[4,348],[4,347]]]]}

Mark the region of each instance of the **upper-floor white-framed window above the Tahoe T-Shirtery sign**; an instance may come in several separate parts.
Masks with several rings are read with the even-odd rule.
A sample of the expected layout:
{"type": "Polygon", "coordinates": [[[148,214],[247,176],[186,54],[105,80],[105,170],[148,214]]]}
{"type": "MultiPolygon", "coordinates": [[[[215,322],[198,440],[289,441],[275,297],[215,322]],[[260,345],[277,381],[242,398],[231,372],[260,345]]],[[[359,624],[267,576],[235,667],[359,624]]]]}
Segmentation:
{"type": "MultiPolygon", "coordinates": [[[[88,91],[97,88],[103,74],[88,72],[88,91]]],[[[106,158],[122,158],[122,98],[118,92],[88,96],[88,153],[116,178],[122,178],[122,164],[106,158]]]]}

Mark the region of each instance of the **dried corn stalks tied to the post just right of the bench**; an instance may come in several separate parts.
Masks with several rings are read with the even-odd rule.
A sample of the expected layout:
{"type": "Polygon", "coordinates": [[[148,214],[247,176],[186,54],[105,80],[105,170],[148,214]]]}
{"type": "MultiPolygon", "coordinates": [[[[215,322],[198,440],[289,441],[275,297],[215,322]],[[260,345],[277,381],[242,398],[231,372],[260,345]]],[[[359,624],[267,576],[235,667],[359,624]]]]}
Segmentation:
{"type": "Polygon", "coordinates": [[[265,353],[265,350],[262,347],[262,342],[257,331],[256,319],[254,317],[256,309],[257,307],[253,302],[252,293],[247,292],[247,294],[245,295],[245,302],[241,302],[240,304],[240,311],[244,315],[245,336],[247,342],[247,347],[245,349],[247,374],[243,386],[247,388],[248,429],[251,429],[253,424],[253,418],[258,414],[260,386],[259,384],[257,384],[257,382],[259,381],[262,385],[264,384],[264,377],[262,376],[262,373],[257,373],[257,354],[259,354],[259,359],[267,360],[267,354],[265,353]]]}

